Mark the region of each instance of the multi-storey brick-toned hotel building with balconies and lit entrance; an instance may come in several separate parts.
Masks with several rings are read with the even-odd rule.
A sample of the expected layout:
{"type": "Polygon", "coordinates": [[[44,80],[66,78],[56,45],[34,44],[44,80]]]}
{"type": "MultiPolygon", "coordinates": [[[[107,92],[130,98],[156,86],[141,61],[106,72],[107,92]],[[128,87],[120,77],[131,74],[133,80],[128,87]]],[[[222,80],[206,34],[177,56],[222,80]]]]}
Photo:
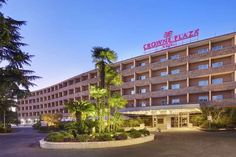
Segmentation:
{"type": "MultiPolygon", "coordinates": [[[[112,87],[128,104],[129,116],[145,116],[162,129],[188,127],[200,105],[236,106],[236,33],[180,45],[114,64],[123,84],[112,87]]],[[[50,87],[33,91],[18,101],[22,123],[44,113],[68,116],[69,100],[90,100],[89,86],[98,84],[91,70],[50,87]]]]}

